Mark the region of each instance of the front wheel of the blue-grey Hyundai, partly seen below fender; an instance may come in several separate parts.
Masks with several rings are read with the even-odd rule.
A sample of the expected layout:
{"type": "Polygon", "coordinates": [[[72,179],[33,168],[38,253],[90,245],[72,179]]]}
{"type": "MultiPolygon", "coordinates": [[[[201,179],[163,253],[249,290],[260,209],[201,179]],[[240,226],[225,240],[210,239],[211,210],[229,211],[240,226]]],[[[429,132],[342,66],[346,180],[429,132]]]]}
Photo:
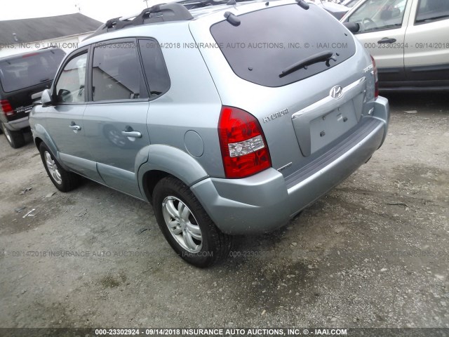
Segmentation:
{"type": "Polygon", "coordinates": [[[48,177],[58,190],[69,192],[78,187],[80,177],[63,169],[50,150],[48,150],[47,145],[41,143],[39,152],[41,152],[43,167],[45,167],[48,177]]]}

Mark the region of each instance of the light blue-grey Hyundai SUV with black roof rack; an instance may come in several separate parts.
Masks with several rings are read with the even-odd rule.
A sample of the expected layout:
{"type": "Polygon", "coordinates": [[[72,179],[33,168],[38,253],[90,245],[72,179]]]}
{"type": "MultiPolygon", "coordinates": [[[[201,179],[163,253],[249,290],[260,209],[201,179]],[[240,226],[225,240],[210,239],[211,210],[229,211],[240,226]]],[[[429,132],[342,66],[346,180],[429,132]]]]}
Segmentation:
{"type": "Polygon", "coordinates": [[[376,86],[369,53],[314,4],[161,4],[67,55],[29,121],[55,187],[84,176],[149,201],[205,267],[370,159],[389,122],[376,86]]]}

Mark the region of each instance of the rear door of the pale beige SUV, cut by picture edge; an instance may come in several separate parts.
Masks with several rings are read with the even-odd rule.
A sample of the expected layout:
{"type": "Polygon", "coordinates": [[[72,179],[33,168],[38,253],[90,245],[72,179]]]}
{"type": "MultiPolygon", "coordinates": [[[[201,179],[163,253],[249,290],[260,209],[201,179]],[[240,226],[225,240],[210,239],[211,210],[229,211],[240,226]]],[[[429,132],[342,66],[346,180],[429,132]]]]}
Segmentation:
{"type": "MultiPolygon", "coordinates": [[[[416,0],[406,32],[410,81],[449,81],[449,1],[416,0]]],[[[438,83],[434,82],[434,85],[438,83]]],[[[447,84],[446,84],[447,85],[447,84]]]]}

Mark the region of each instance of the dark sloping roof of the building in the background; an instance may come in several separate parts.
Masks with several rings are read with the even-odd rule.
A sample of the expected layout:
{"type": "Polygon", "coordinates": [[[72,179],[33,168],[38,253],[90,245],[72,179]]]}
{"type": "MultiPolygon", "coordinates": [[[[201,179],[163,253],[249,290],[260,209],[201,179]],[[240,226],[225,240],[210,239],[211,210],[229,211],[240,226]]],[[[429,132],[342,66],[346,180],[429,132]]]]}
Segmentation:
{"type": "Polygon", "coordinates": [[[93,32],[102,22],[81,13],[0,21],[0,44],[20,44],[93,32]],[[15,37],[18,41],[15,40],[15,37]]]}

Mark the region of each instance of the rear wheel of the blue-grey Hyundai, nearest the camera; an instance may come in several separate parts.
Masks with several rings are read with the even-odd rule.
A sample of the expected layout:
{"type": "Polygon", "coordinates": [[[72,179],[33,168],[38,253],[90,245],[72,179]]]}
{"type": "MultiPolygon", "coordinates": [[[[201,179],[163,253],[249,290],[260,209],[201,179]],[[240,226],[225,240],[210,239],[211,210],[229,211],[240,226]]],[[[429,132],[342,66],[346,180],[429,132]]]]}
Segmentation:
{"type": "Polygon", "coordinates": [[[160,180],[154,187],[153,207],[163,236],[188,263],[208,267],[229,253],[232,237],[220,232],[180,180],[173,177],[160,180]]]}

